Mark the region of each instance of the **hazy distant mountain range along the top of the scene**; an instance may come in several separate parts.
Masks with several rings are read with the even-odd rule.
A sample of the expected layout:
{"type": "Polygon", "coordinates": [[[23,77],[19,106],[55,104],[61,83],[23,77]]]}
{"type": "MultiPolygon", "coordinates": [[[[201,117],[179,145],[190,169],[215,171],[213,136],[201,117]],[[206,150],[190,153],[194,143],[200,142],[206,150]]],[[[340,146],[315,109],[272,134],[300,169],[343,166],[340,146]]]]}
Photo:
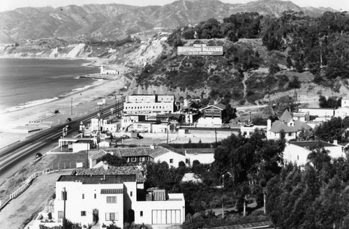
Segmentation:
{"type": "Polygon", "coordinates": [[[196,24],[211,17],[223,20],[239,12],[258,12],[279,17],[285,10],[303,11],[317,17],[332,8],[302,8],[291,1],[260,0],[246,4],[217,0],[174,1],[165,6],[89,4],[59,8],[17,8],[0,12],[0,43],[21,39],[75,38],[116,40],[128,34],[196,24]]]}

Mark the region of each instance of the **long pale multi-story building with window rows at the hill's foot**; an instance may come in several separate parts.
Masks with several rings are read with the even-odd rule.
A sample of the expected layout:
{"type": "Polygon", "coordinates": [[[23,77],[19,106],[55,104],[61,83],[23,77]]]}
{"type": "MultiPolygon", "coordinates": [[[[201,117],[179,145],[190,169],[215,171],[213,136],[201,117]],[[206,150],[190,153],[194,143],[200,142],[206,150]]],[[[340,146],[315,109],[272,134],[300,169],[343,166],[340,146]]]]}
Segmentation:
{"type": "Polygon", "coordinates": [[[124,115],[147,117],[174,112],[174,95],[133,94],[124,103],[124,115]]]}

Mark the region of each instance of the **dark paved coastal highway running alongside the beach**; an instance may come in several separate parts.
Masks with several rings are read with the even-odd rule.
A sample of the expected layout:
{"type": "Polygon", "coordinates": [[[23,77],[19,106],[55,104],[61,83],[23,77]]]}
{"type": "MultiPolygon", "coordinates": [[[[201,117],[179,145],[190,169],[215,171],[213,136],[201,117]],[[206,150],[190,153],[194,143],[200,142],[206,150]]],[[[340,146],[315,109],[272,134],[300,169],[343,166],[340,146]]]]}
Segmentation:
{"type": "MultiPolygon", "coordinates": [[[[109,117],[111,115],[110,108],[115,108],[114,104],[107,105],[101,108],[102,118],[109,117]]],[[[123,103],[118,103],[118,110],[123,108],[123,103]]],[[[91,118],[96,117],[100,110],[96,110],[86,114],[82,117],[75,118],[70,122],[66,122],[65,124],[59,124],[57,126],[53,126],[52,128],[48,128],[44,131],[40,131],[33,135],[30,135],[23,140],[15,142],[7,147],[3,147],[0,150],[0,172],[5,170],[6,168],[18,163],[21,158],[28,156],[29,154],[33,154],[35,156],[36,152],[39,152],[40,148],[44,147],[48,143],[52,141],[57,141],[61,135],[63,128],[68,124],[70,128],[68,129],[68,133],[75,133],[79,130],[80,121],[86,123],[90,121],[91,118]]]]}

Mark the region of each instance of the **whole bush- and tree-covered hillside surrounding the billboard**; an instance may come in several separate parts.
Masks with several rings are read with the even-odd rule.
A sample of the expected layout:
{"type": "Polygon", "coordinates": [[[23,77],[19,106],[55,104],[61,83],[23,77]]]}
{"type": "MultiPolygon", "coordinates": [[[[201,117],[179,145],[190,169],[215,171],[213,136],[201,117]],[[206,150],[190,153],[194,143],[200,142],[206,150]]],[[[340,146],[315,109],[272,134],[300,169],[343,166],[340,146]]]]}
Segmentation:
{"type": "Polygon", "coordinates": [[[297,73],[310,71],[313,82],[338,92],[349,76],[348,24],[347,13],[330,12],[317,18],[288,11],[278,18],[239,13],[223,22],[209,19],[175,29],[168,37],[170,54],[145,66],[138,83],[200,89],[197,96],[225,104],[253,103],[301,87],[297,73]],[[177,46],[194,43],[221,45],[224,54],[177,56],[177,46]]]}

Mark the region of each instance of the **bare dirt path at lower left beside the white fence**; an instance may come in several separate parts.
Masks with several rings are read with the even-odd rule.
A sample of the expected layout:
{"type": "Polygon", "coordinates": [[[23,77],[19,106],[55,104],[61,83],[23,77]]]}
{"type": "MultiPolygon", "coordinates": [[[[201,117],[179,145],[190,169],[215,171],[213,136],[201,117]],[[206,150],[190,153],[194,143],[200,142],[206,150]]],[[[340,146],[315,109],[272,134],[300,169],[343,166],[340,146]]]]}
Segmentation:
{"type": "Polygon", "coordinates": [[[60,175],[70,175],[71,170],[42,175],[34,179],[29,188],[11,200],[0,212],[1,228],[18,229],[34,212],[40,212],[55,192],[54,184],[60,175]]]}

